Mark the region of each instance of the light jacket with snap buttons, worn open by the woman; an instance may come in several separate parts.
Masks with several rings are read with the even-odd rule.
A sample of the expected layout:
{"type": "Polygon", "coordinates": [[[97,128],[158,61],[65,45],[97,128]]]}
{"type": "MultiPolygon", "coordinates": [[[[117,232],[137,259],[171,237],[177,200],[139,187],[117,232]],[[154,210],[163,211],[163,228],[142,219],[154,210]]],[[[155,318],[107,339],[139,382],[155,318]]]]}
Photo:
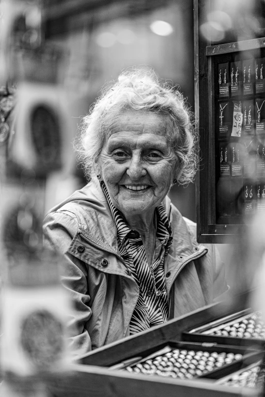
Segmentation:
{"type": "MultiPolygon", "coordinates": [[[[177,317],[210,304],[227,286],[215,245],[197,244],[196,225],[168,197],[164,206],[173,229],[164,259],[165,285],[177,317]]],[[[129,335],[139,288],[119,256],[116,234],[98,181],[57,205],[44,221],[46,247],[65,254],[62,283],[74,301],[72,343],[80,355],[129,335]]]]}

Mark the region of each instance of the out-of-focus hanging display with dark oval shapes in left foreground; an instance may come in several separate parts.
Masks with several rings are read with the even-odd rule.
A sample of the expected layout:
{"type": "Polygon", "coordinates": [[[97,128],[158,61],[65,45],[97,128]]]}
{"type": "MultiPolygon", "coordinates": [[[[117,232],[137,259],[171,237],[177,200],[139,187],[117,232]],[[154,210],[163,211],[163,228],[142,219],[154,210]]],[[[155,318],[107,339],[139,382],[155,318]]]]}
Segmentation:
{"type": "MultiPolygon", "coordinates": [[[[4,394],[15,395],[20,377],[25,384],[27,376],[69,370],[72,308],[60,284],[62,258],[43,248],[42,222],[49,175],[63,179],[75,157],[64,51],[43,40],[41,2],[0,6],[0,360],[4,394]]],[[[40,381],[29,383],[38,389],[40,381]]]]}

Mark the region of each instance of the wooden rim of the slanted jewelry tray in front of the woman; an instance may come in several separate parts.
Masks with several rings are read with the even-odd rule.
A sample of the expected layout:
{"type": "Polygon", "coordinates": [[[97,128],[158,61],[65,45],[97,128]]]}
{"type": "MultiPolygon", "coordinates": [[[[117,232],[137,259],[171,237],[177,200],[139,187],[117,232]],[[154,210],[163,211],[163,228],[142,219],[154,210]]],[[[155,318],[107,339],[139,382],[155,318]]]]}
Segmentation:
{"type": "MultiPolygon", "coordinates": [[[[244,298],[239,301],[244,302],[244,298]]],[[[233,316],[241,309],[244,309],[244,306],[228,308],[223,303],[212,304],[189,315],[153,327],[146,332],[98,348],[85,355],[81,360],[82,364],[73,367],[74,372],[68,379],[63,378],[51,382],[49,388],[56,397],[74,395],[79,397],[88,395],[90,397],[103,395],[160,397],[161,394],[167,397],[175,395],[178,397],[186,395],[189,397],[258,396],[258,391],[253,388],[222,386],[214,379],[182,380],[109,369],[112,365],[130,357],[139,356],[143,352],[153,351],[157,346],[167,344],[169,341],[173,344],[174,341],[181,341],[184,331],[203,326],[223,316],[233,316]]],[[[213,345],[210,349],[213,349],[213,345]]],[[[230,349],[233,350],[235,347],[230,347],[230,349]]],[[[262,349],[261,347],[260,352],[257,353],[257,359],[263,355],[262,349]]]]}

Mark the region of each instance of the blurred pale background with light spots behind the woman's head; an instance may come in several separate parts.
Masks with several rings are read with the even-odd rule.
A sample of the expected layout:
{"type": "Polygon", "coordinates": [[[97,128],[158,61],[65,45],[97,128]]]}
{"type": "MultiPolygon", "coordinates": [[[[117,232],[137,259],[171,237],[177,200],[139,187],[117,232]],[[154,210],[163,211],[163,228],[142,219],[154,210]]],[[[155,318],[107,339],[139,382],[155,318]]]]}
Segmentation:
{"type": "MultiPolygon", "coordinates": [[[[78,10],[68,1],[47,2],[47,38],[68,50],[64,87],[70,91],[74,133],[107,82],[127,67],[150,66],[187,98],[194,111],[193,0],[87,2],[78,10]],[[72,12],[71,12],[71,7],[72,12]],[[65,17],[69,15],[69,17],[65,17]]],[[[85,180],[80,167],[73,178],[49,177],[47,210],[85,180]]],[[[195,186],[174,186],[170,197],[195,221],[195,186]]]]}

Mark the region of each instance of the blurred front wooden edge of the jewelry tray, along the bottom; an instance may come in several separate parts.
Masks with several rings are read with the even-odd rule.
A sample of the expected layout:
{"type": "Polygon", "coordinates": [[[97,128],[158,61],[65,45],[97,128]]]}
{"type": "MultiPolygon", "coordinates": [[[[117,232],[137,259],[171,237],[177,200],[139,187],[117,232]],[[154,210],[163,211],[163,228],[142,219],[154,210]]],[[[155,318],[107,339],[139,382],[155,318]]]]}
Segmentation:
{"type": "Polygon", "coordinates": [[[73,371],[72,376],[50,382],[54,397],[258,397],[254,389],[222,386],[211,380],[157,379],[84,365],[74,366],[73,371]]]}

